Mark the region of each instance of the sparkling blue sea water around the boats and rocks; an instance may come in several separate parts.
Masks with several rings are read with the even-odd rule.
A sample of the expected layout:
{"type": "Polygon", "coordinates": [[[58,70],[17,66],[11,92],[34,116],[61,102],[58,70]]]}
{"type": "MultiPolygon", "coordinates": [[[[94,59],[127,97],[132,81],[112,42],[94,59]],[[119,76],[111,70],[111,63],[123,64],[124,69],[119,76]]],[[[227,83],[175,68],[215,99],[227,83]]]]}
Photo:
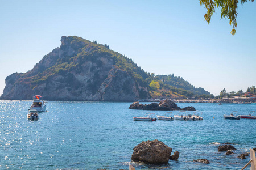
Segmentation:
{"type": "MultiPolygon", "coordinates": [[[[203,121],[134,121],[147,112],[131,103],[48,101],[48,112],[28,121],[31,101],[0,100],[0,169],[241,169],[250,160],[237,158],[256,147],[256,120],[225,120],[256,104],[176,103],[203,112],[203,121]],[[131,161],[133,148],[158,139],[179,151],[179,160],[150,165],[131,161]],[[234,154],[218,152],[232,143],[234,154]],[[208,159],[209,164],[193,162],[208,159]]],[[[143,103],[149,104],[149,103],[143,103]]],[[[179,111],[172,111],[172,115],[179,111]]],[[[256,115],[255,115],[256,116],[256,115]]],[[[250,169],[247,167],[246,169],[250,169]]]]}

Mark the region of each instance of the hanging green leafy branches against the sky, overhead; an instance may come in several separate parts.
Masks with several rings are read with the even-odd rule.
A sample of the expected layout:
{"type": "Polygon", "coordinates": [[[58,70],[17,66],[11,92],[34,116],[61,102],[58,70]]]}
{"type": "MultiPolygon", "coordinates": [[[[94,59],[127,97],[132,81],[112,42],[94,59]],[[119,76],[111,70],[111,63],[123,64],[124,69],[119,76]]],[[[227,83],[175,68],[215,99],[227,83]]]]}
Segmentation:
{"type": "MultiPolygon", "coordinates": [[[[254,0],[251,0],[251,2],[253,1],[254,0]]],[[[242,5],[245,2],[247,2],[247,0],[241,0],[242,5]]],[[[232,35],[235,35],[237,28],[236,18],[238,14],[238,3],[238,0],[200,0],[200,5],[204,5],[204,7],[207,9],[206,14],[204,15],[204,20],[206,20],[206,22],[209,24],[213,12],[215,12],[215,8],[221,8],[221,19],[229,19],[229,24],[233,26],[233,29],[231,31],[232,35]]]]}

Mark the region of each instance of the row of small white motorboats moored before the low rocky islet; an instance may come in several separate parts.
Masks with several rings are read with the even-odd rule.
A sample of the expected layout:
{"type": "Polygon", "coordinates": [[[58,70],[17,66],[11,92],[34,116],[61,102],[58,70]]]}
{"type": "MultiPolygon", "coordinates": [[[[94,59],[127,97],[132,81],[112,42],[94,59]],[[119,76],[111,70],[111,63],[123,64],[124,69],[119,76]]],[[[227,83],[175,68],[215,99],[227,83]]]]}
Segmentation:
{"type": "Polygon", "coordinates": [[[144,116],[141,117],[133,117],[134,121],[156,121],[156,120],[204,120],[202,117],[203,112],[197,111],[197,112],[186,112],[186,111],[180,111],[179,114],[174,115],[174,117],[171,117],[172,112],[166,112],[163,116],[156,115],[156,118],[153,118],[155,113],[146,113],[144,116]]]}

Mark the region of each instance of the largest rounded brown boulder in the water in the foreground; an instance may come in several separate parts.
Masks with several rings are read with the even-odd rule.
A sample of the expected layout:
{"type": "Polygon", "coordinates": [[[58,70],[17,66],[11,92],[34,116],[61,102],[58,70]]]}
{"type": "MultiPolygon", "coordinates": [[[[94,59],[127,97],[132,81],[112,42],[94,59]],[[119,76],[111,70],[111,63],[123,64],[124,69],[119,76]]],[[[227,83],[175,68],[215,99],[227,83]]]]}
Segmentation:
{"type": "Polygon", "coordinates": [[[172,152],[172,148],[157,139],[154,141],[143,141],[135,146],[133,150],[131,160],[150,164],[168,163],[172,152]]]}

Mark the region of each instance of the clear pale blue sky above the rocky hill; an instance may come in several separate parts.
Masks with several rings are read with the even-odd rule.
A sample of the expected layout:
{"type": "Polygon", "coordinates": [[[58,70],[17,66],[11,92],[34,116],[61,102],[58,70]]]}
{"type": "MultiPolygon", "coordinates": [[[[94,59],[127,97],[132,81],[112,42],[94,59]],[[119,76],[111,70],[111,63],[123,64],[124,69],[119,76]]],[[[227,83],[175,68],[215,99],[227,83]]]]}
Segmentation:
{"type": "Polygon", "coordinates": [[[208,25],[199,1],[0,0],[0,94],[6,76],[31,70],[61,36],[108,44],[147,72],[183,77],[213,95],[256,85],[256,2],[238,6],[237,33],[220,11],[208,25]]]}

